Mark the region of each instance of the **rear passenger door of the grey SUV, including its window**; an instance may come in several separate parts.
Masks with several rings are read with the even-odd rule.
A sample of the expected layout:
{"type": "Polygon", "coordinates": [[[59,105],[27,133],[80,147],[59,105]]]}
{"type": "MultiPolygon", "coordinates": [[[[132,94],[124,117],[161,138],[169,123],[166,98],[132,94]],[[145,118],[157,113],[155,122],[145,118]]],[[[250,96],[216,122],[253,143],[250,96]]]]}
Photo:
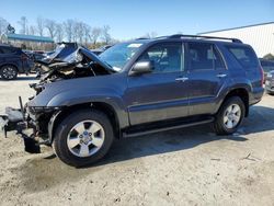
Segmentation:
{"type": "Polygon", "coordinates": [[[212,114],[228,71],[217,47],[212,43],[187,43],[190,115],[212,114]]]}

